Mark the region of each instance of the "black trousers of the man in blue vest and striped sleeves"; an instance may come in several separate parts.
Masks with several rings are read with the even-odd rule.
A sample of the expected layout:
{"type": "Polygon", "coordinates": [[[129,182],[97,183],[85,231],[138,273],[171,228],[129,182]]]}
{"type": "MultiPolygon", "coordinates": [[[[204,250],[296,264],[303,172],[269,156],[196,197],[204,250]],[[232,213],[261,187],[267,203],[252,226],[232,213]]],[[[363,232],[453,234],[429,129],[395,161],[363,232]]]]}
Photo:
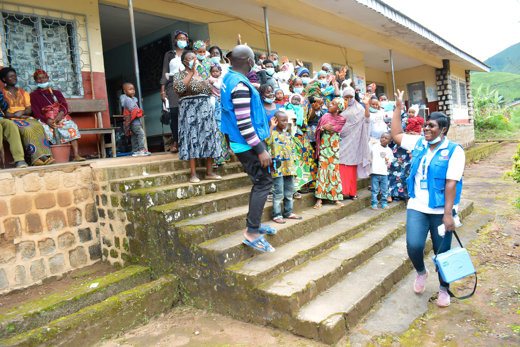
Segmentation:
{"type": "MultiPolygon", "coordinates": [[[[267,144],[264,142],[265,148],[267,144]]],[[[272,176],[268,169],[264,169],[264,174],[258,175],[258,168],[260,159],[258,155],[252,149],[235,153],[238,160],[244,165],[245,172],[253,182],[253,188],[249,195],[249,212],[245,226],[248,227],[248,233],[259,234],[260,224],[262,222],[262,213],[264,211],[264,205],[267,201],[267,195],[272,187],[272,176]]]]}

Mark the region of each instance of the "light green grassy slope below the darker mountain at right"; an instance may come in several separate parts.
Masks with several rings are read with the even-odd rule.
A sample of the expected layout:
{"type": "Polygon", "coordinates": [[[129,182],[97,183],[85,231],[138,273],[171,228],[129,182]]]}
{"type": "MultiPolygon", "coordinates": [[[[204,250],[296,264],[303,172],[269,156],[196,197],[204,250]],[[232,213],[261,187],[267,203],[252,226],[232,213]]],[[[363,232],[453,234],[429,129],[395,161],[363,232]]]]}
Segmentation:
{"type": "MultiPolygon", "coordinates": [[[[520,46],[520,45],[519,45],[520,46]]],[[[472,72],[471,86],[477,88],[480,84],[490,89],[498,89],[498,93],[505,100],[515,101],[520,99],[520,75],[506,72],[472,72]]]]}

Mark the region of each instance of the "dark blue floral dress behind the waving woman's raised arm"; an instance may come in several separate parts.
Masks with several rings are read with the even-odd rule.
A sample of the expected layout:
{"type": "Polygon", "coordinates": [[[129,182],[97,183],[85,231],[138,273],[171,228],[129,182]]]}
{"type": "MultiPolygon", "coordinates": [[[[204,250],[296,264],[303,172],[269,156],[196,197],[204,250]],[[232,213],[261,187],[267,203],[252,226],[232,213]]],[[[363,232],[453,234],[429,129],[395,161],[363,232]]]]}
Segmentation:
{"type": "MultiPolygon", "coordinates": [[[[405,131],[407,121],[408,115],[406,113],[401,114],[403,131],[405,131]]],[[[392,162],[390,169],[388,169],[388,196],[409,199],[406,179],[410,176],[412,155],[393,141],[391,146],[395,160],[392,162]]]]}

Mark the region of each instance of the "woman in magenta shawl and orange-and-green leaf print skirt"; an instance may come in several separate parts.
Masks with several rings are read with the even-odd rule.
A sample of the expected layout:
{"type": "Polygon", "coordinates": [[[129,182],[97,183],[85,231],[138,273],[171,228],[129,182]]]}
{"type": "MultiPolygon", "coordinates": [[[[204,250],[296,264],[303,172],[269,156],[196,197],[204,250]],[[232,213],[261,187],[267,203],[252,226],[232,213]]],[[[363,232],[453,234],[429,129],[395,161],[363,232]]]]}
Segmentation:
{"type": "Polygon", "coordinates": [[[327,106],[329,112],[323,114],[316,127],[316,197],[314,208],[321,209],[322,199],[334,201],[337,207],[343,207],[343,188],[339,171],[340,131],[345,118],[340,112],[345,110],[345,100],[335,98],[327,106]]]}

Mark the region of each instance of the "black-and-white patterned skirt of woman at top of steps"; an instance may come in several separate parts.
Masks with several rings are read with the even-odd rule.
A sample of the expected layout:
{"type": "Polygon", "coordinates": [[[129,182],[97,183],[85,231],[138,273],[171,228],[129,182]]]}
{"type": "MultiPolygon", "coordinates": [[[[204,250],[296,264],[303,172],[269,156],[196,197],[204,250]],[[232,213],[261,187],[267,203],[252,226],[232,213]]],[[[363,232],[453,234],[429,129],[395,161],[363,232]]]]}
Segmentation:
{"type": "Polygon", "coordinates": [[[179,99],[179,144],[180,160],[222,156],[222,140],[209,95],[179,99]]]}

